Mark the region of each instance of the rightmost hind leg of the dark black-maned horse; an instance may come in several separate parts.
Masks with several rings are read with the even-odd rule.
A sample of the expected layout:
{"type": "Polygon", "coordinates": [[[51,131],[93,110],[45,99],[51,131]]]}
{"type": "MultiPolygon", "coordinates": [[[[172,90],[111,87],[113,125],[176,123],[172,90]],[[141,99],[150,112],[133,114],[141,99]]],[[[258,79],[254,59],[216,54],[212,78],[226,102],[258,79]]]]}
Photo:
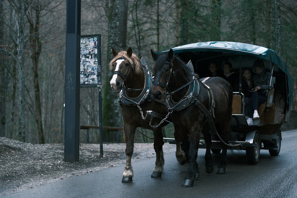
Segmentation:
{"type": "MultiPolygon", "coordinates": [[[[221,122],[221,138],[228,144],[229,121],[221,122]]],[[[225,174],[227,169],[227,145],[222,142],[222,155],[218,166],[217,174],[225,174]]]]}

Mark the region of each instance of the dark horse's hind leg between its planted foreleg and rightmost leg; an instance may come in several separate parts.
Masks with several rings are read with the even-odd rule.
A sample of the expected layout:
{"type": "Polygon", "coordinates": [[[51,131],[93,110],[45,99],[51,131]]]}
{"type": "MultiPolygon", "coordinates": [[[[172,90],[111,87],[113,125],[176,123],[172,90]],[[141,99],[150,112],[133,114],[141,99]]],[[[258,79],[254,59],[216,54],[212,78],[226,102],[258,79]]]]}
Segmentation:
{"type": "Polygon", "coordinates": [[[214,172],[214,164],[212,161],[212,156],[211,156],[211,135],[208,132],[207,127],[205,127],[205,129],[203,129],[203,137],[206,143],[206,152],[205,152],[205,172],[210,174],[212,172],[214,172]]]}

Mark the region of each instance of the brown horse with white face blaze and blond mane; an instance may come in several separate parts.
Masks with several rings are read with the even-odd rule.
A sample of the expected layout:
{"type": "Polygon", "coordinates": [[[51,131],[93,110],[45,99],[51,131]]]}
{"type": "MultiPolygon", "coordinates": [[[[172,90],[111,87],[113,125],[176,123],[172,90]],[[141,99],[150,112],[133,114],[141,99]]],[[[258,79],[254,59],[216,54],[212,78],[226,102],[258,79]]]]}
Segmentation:
{"type": "MultiPolygon", "coordinates": [[[[109,68],[113,71],[110,85],[113,91],[119,93],[119,103],[122,108],[124,120],[124,133],[126,136],[126,166],[124,168],[123,183],[132,182],[133,170],[131,158],[134,147],[134,134],[137,127],[150,129],[154,132],[154,149],[156,163],[151,175],[152,178],[160,178],[163,172],[164,156],[162,146],[164,144],[161,128],[168,124],[157,117],[143,112],[152,110],[159,115],[167,115],[164,104],[156,102],[150,94],[152,89],[151,72],[145,63],[132,53],[129,47],[127,52],[117,52],[112,49],[113,60],[109,68]],[[158,127],[152,127],[157,126],[158,127]]],[[[164,120],[163,120],[164,121],[164,120]]]]}

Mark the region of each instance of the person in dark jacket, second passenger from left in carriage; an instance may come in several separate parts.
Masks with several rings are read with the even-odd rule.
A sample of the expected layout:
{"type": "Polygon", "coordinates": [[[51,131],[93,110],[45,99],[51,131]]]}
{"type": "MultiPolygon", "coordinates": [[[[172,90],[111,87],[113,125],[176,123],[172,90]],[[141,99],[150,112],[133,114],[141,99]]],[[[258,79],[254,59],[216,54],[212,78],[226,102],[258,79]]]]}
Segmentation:
{"type": "Polygon", "coordinates": [[[231,72],[231,70],[232,64],[226,61],[223,66],[224,73],[221,74],[220,77],[225,78],[231,84],[233,91],[239,91],[238,74],[236,72],[231,72]]]}

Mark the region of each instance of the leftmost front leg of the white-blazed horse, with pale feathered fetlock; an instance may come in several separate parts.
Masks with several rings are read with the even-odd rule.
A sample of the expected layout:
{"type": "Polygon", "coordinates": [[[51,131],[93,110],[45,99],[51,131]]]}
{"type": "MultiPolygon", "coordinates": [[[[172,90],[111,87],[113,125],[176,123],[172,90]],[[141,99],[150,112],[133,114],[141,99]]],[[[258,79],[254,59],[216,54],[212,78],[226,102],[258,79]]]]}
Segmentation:
{"type": "Polygon", "coordinates": [[[133,181],[133,169],[131,166],[131,158],[134,149],[135,128],[124,123],[124,132],[126,136],[126,165],[124,168],[122,183],[130,183],[133,181]]]}

